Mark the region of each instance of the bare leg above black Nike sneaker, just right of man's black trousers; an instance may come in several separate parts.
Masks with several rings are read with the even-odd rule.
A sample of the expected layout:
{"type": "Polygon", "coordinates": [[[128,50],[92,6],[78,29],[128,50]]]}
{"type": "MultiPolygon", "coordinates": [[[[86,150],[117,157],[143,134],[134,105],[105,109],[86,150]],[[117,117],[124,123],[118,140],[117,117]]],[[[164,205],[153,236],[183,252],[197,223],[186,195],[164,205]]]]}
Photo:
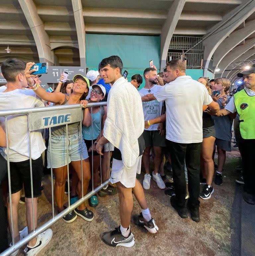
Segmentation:
{"type": "Polygon", "coordinates": [[[209,138],[204,138],[202,142],[201,155],[203,159],[204,166],[204,177],[206,178],[206,183],[212,186],[213,174],[214,174],[214,163],[213,163],[213,145],[215,138],[213,136],[209,138]]]}

